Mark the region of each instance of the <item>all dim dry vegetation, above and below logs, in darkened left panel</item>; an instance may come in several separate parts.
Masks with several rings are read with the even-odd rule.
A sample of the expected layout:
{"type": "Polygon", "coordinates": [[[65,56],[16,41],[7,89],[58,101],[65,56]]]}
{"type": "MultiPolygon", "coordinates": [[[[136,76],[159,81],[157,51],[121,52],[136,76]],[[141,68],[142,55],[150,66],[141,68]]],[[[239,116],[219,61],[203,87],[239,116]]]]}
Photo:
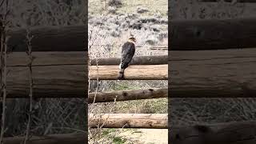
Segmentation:
{"type": "MultiPolygon", "coordinates": [[[[8,2],[10,13],[7,20],[10,23],[7,30],[29,29],[34,26],[82,25],[86,22],[86,4],[83,0],[9,0],[8,2]]],[[[33,55],[33,47],[31,50],[33,55]]],[[[7,99],[6,137],[24,136],[29,115],[31,116],[30,134],[33,135],[85,131],[84,98],[33,98],[31,108],[32,111],[29,98],[7,99]]]]}

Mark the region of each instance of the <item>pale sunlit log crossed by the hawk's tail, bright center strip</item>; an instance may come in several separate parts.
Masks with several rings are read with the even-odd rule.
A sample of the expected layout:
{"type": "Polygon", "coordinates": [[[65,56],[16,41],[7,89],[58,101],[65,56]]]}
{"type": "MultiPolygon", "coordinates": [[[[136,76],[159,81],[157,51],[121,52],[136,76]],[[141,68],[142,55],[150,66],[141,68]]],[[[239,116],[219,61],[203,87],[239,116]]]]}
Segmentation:
{"type": "MultiPolygon", "coordinates": [[[[118,78],[118,66],[90,66],[90,80],[115,80],[118,78]]],[[[168,65],[134,65],[126,68],[126,80],[166,80],[168,65]]]]}

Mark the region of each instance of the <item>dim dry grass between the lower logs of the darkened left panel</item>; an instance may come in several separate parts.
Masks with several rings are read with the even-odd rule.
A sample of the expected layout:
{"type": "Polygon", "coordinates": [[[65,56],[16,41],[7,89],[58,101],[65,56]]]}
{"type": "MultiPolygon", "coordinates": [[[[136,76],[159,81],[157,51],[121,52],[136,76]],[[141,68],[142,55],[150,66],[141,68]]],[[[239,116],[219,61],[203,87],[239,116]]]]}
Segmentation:
{"type": "MultiPolygon", "coordinates": [[[[85,102],[82,98],[40,98],[33,102],[30,132],[34,135],[85,131],[85,102]]],[[[6,136],[24,135],[29,101],[7,101],[6,136]]]]}

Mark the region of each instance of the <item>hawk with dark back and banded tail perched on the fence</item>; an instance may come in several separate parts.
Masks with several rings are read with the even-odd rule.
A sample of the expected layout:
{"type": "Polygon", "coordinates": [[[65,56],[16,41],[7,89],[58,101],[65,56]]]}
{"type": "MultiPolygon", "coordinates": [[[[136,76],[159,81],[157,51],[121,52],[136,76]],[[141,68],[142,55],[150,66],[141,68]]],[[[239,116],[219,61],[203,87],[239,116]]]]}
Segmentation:
{"type": "Polygon", "coordinates": [[[118,75],[118,80],[124,79],[123,73],[124,70],[128,67],[131,59],[134,57],[135,53],[135,38],[129,38],[128,42],[124,43],[122,46],[122,55],[121,55],[121,63],[119,65],[120,71],[118,75]]]}

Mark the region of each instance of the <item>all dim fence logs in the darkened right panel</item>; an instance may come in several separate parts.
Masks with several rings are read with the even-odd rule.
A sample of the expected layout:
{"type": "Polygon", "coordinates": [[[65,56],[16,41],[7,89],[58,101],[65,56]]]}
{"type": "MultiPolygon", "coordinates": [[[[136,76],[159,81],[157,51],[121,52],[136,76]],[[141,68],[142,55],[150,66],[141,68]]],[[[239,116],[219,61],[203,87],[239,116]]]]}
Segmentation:
{"type": "MultiPolygon", "coordinates": [[[[169,98],[255,98],[255,24],[256,18],[170,22],[169,98]]],[[[256,141],[255,122],[170,126],[169,130],[173,144],[256,141]]]]}

